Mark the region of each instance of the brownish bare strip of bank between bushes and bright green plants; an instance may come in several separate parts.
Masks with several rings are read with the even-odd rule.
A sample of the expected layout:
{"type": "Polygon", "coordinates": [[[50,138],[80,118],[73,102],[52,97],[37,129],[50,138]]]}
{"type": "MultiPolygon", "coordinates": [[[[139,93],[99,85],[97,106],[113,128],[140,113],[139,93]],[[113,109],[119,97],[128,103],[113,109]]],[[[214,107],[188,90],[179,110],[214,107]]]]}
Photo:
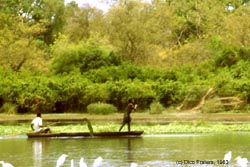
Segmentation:
{"type": "MultiPolygon", "coordinates": [[[[28,115],[7,115],[0,114],[1,122],[29,122],[34,118],[35,114],[28,115]]],[[[250,113],[216,113],[216,114],[203,114],[203,113],[165,113],[165,114],[148,114],[148,113],[132,113],[132,119],[135,123],[142,124],[168,124],[173,122],[193,122],[193,121],[205,121],[205,122],[219,122],[219,123],[250,123],[250,113]]],[[[112,115],[90,115],[90,114],[43,114],[44,121],[81,121],[85,118],[91,122],[120,122],[123,114],[112,115]]]]}

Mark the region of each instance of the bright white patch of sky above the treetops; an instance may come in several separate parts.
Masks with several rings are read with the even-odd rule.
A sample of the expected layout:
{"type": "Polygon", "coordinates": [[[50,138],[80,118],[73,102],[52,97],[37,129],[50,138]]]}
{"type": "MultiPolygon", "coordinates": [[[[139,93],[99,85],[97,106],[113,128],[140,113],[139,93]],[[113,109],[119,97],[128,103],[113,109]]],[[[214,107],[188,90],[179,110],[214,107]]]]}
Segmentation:
{"type": "Polygon", "coordinates": [[[75,1],[80,7],[89,4],[91,7],[96,7],[98,9],[103,10],[104,12],[107,12],[110,7],[107,4],[107,1],[109,0],[64,0],[65,4],[71,1],[75,1]]]}

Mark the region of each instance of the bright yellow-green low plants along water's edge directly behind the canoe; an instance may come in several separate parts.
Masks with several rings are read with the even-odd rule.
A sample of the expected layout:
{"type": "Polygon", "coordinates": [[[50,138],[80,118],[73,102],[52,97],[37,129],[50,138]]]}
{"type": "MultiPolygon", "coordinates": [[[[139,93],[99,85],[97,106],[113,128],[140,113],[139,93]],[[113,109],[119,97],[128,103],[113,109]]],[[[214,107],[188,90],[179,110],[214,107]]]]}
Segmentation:
{"type": "MultiPolygon", "coordinates": [[[[94,124],[94,132],[118,131],[120,124],[94,124]]],[[[88,132],[85,124],[51,126],[52,132],[88,132]]],[[[187,133],[223,133],[223,132],[250,132],[250,124],[212,124],[206,122],[170,123],[167,125],[132,124],[132,130],[144,130],[144,134],[187,134],[187,133]]],[[[127,130],[125,126],[124,131],[127,130]]],[[[30,125],[0,125],[0,136],[25,135],[32,132],[30,125]]]]}

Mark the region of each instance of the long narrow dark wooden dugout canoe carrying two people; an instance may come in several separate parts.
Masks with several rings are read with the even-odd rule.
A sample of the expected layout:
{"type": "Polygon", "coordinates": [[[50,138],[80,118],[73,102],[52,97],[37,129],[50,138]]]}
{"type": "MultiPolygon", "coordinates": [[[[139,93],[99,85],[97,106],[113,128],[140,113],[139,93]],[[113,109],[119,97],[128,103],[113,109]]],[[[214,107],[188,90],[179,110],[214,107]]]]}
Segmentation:
{"type": "Polygon", "coordinates": [[[130,132],[68,132],[68,133],[27,133],[28,138],[37,137],[138,137],[144,131],[130,131],[130,132]]]}

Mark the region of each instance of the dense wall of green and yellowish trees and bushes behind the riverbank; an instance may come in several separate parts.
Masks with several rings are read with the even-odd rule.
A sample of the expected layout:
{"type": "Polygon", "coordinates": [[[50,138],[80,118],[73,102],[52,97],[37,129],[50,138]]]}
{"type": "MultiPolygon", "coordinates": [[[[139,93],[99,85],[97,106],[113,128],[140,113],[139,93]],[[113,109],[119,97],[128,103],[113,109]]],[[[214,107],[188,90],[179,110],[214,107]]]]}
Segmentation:
{"type": "Polygon", "coordinates": [[[1,112],[122,110],[131,98],[162,110],[187,98],[195,106],[209,88],[249,111],[248,0],[121,0],[107,13],[18,2],[0,4],[1,112]]]}

